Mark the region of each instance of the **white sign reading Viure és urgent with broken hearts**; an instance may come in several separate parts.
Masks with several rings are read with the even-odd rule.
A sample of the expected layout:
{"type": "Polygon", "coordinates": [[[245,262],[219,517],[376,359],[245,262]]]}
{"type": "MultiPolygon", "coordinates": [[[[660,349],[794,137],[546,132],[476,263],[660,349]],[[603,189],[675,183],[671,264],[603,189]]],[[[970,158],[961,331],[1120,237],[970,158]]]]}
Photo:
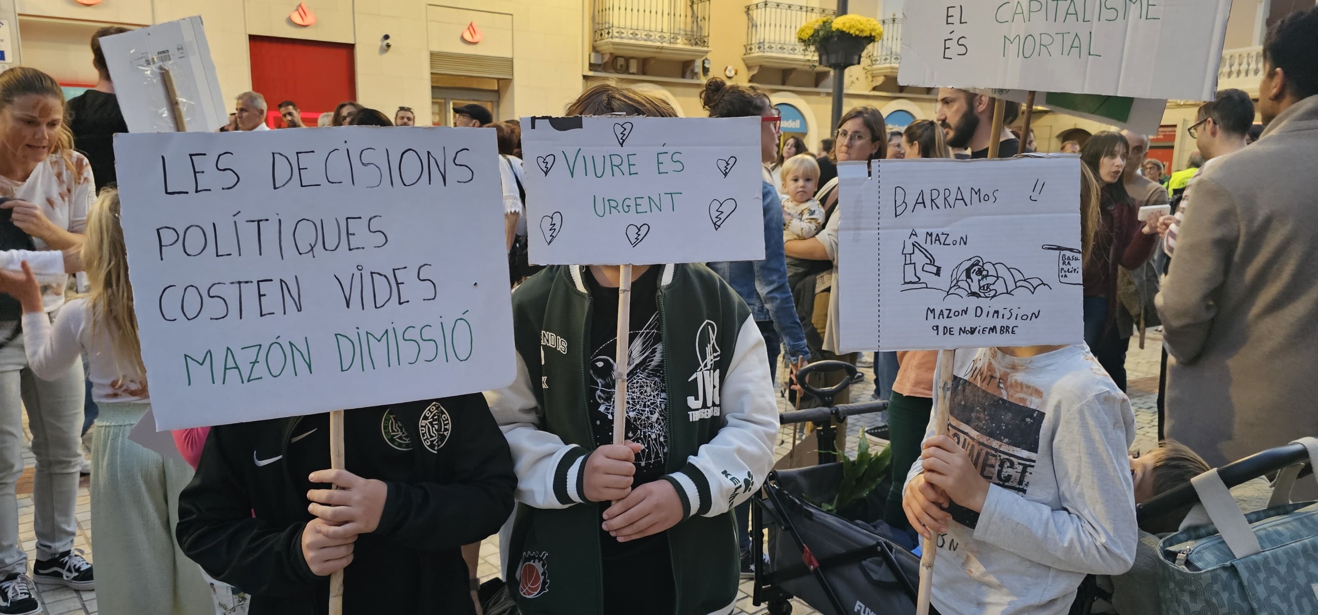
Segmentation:
{"type": "Polygon", "coordinates": [[[764,258],[759,117],[523,117],[530,259],[764,258]]]}

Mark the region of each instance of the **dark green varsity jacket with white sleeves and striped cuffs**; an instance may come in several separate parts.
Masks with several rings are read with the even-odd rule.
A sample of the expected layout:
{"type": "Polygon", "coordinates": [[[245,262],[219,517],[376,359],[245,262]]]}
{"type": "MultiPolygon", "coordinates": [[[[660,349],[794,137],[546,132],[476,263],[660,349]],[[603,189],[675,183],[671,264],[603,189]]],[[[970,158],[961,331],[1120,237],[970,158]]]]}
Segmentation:
{"type": "MultiPolygon", "coordinates": [[[[517,381],[486,392],[513,450],[518,511],[505,578],[526,615],[602,614],[600,510],[583,496],[594,450],[587,410],[592,299],[583,266],[513,292],[517,381]]],[[[687,518],[668,531],[677,614],[728,614],[737,598],[731,508],[774,465],[778,407],[764,340],[704,265],[664,265],[656,304],[668,388],[670,481],[687,518]]]]}

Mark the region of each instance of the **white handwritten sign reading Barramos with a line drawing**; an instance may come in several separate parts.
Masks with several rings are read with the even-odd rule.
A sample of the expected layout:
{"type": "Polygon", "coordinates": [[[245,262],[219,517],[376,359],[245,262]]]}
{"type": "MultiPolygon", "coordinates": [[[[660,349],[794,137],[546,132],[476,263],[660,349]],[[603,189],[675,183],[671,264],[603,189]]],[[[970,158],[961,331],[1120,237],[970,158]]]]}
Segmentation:
{"type": "Polygon", "coordinates": [[[838,165],[842,350],[1081,342],[1079,163],[838,165]]]}

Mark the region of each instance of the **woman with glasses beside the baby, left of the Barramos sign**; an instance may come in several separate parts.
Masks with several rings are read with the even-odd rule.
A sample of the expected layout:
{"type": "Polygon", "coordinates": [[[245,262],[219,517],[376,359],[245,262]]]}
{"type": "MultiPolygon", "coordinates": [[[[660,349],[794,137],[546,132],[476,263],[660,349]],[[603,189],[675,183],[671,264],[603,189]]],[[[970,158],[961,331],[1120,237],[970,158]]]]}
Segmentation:
{"type": "MultiPolygon", "coordinates": [[[[838,122],[833,154],[837,162],[873,161],[883,158],[887,150],[887,126],[883,113],[874,107],[855,107],[838,122]]],[[[783,245],[787,253],[787,278],[797,298],[805,340],[815,360],[841,360],[855,362],[855,354],[834,354],[837,345],[837,306],[830,302],[830,288],[837,275],[837,229],[841,216],[837,211],[838,182],[834,176],[815,196],[824,207],[824,230],[808,240],[792,240],[783,245]],[[824,274],[824,275],[821,275],[824,274]],[[803,309],[808,308],[808,309],[803,309]]],[[[841,382],[844,371],[822,374],[820,383],[832,386],[841,382]]],[[[850,402],[849,391],[842,391],[834,403],[850,402]]],[[[838,445],[845,440],[845,429],[838,431],[838,445]]],[[[841,450],[841,448],[838,449],[841,450]]]]}

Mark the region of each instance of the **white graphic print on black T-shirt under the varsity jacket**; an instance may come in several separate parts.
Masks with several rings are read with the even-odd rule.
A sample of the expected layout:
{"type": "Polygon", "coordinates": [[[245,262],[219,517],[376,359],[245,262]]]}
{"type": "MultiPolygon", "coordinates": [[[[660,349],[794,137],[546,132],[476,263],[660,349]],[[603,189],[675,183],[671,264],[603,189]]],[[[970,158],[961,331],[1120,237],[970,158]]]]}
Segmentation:
{"type": "MultiPolygon", "coordinates": [[[[614,362],[617,338],[600,346],[590,360],[590,394],[598,404],[593,419],[613,423],[614,362]],[[602,415],[602,416],[600,416],[602,415]]],[[[664,385],[664,353],[659,337],[659,312],[655,312],[639,331],[631,332],[627,346],[627,433],[626,439],[639,442],[637,464],[646,466],[663,464],[668,437],[668,390],[664,385]]]]}

